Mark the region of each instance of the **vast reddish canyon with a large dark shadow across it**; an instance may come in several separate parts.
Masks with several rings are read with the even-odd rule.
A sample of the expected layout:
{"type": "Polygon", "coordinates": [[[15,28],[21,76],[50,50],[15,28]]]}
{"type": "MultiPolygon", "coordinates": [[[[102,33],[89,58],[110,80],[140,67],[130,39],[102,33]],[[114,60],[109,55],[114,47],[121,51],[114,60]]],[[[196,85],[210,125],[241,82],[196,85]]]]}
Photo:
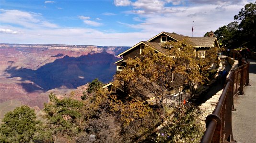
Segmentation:
{"type": "Polygon", "coordinates": [[[93,79],[110,82],[128,48],[0,43],[0,119],[21,104],[42,109],[50,92],[80,97],[93,79]]]}

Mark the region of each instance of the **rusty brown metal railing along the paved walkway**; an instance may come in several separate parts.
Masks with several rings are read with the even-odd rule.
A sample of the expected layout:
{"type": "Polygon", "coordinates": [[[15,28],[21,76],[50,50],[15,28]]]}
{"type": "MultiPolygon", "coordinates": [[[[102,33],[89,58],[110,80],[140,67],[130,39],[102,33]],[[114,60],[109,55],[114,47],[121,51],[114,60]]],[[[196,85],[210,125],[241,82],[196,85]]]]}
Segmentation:
{"type": "Polygon", "coordinates": [[[201,143],[236,143],[232,132],[232,111],[235,111],[233,96],[244,95],[244,86],[250,86],[250,62],[243,60],[240,64],[231,70],[216,109],[206,118],[207,129],[201,143]]]}

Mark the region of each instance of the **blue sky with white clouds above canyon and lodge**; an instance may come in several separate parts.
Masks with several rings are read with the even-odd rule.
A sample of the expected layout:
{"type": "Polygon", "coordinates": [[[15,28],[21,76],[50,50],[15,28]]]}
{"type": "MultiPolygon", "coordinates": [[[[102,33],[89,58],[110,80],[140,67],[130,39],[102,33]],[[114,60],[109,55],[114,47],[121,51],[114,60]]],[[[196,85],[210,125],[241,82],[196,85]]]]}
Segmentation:
{"type": "Polygon", "coordinates": [[[175,32],[202,37],[254,0],[0,0],[0,43],[133,46],[175,32]],[[194,21],[194,22],[193,22],[194,21]]]}

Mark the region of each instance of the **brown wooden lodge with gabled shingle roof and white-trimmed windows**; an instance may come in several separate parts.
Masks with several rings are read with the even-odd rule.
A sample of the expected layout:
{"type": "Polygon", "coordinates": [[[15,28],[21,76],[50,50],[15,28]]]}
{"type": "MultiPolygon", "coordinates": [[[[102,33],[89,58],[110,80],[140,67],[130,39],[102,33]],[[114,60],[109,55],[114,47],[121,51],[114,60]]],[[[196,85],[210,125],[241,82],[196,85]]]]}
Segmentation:
{"type": "MultiPolygon", "coordinates": [[[[118,74],[119,72],[123,71],[129,57],[140,57],[140,54],[145,46],[153,48],[153,50],[156,52],[167,55],[167,50],[162,47],[163,43],[167,41],[182,41],[185,39],[186,43],[190,44],[194,48],[195,53],[197,53],[197,58],[205,58],[207,50],[212,47],[220,48],[216,37],[189,37],[175,33],[161,32],[149,39],[148,41],[140,41],[128,50],[118,54],[118,57],[121,57],[121,60],[115,62],[116,73],[118,74]]],[[[171,91],[171,93],[177,94],[181,92],[184,88],[184,79],[182,75],[173,73],[172,80],[173,82],[171,82],[170,86],[173,90],[171,91]]],[[[111,91],[112,93],[124,92],[122,89],[116,89],[115,87],[113,87],[112,83],[106,84],[103,88],[108,88],[108,91],[111,91]]]]}

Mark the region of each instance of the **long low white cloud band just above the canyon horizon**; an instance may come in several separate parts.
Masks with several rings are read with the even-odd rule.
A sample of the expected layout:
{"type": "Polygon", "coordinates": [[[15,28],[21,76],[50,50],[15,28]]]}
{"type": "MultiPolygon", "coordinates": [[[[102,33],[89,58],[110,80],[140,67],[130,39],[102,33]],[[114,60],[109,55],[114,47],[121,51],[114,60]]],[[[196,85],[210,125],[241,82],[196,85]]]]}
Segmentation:
{"type": "MultiPolygon", "coordinates": [[[[8,29],[8,27],[5,28],[8,29]]],[[[21,35],[0,34],[0,43],[133,46],[141,40],[149,39],[150,36],[153,35],[143,32],[109,33],[86,28],[38,29],[36,31],[23,29],[21,35]]]]}

